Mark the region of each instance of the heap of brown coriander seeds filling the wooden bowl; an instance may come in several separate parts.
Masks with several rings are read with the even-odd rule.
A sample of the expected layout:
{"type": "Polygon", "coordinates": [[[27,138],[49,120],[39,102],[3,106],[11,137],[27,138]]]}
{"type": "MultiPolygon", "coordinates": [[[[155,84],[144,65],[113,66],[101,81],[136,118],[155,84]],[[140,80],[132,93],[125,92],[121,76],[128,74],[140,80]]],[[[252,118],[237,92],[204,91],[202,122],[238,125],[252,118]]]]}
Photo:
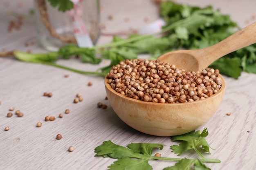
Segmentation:
{"type": "Polygon", "coordinates": [[[184,103],[205,99],[222,85],[219,70],[185,71],[146,59],[119,62],[106,76],[116,92],[145,102],[184,103]]]}

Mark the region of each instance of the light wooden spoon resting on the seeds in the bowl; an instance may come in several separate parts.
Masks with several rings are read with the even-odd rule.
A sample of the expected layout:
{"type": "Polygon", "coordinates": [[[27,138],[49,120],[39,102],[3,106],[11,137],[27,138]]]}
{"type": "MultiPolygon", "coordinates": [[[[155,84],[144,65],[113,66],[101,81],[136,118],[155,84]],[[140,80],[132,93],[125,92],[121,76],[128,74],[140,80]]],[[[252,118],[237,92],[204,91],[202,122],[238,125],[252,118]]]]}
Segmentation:
{"type": "Polygon", "coordinates": [[[158,59],[186,71],[201,71],[220,57],[254,43],[256,43],[256,22],[213,46],[196,50],[171,51],[158,59]]]}

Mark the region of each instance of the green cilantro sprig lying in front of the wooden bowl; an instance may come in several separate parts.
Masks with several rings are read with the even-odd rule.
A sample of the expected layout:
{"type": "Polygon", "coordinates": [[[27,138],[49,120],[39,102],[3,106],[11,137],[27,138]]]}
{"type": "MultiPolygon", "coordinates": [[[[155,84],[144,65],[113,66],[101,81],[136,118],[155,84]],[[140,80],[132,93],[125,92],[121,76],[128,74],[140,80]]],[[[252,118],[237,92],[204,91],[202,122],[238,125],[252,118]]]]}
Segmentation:
{"type": "Polygon", "coordinates": [[[95,156],[117,159],[111,166],[108,166],[110,170],[152,170],[152,166],[148,163],[150,159],[177,161],[174,166],[166,167],[164,170],[190,170],[191,167],[195,170],[210,170],[204,163],[220,163],[220,160],[206,159],[198,151],[198,148],[202,146],[204,151],[209,152],[209,145],[205,140],[207,135],[208,131],[206,128],[201,134],[200,131],[192,131],[171,138],[172,141],[181,141],[179,146],[171,146],[173,152],[181,155],[187,150],[194,149],[201,159],[155,157],[152,156],[153,149],[158,148],[162,150],[165,146],[164,144],[131,143],[124,147],[114,144],[110,140],[103,141],[103,145],[97,146],[94,152],[96,152],[95,156]]]}

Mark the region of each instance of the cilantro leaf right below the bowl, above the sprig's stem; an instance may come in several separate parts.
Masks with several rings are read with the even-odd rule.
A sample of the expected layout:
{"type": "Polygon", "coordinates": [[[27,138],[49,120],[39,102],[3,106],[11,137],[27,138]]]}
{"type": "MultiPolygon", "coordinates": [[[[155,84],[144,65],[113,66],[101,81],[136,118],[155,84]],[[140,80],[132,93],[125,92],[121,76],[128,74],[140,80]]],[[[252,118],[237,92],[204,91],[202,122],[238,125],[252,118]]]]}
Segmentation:
{"type": "Polygon", "coordinates": [[[200,134],[200,131],[193,130],[189,133],[186,133],[184,135],[178,135],[171,137],[172,141],[181,141],[179,145],[173,145],[171,146],[171,149],[174,153],[178,155],[182,155],[184,152],[190,149],[194,149],[202,158],[202,154],[198,151],[198,148],[202,146],[202,148],[209,152],[209,144],[207,143],[205,137],[207,137],[208,131],[207,128],[203,130],[203,132],[200,134]]]}

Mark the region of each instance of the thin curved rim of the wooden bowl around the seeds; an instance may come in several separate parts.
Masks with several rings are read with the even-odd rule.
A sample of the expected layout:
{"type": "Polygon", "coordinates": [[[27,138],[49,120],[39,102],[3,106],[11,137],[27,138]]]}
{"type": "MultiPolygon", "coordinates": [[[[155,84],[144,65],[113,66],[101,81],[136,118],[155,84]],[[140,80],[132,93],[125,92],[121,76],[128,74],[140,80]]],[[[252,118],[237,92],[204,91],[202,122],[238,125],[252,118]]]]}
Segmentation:
{"type": "Polygon", "coordinates": [[[171,106],[180,106],[180,105],[184,105],[184,104],[187,104],[187,105],[190,105],[190,104],[196,104],[196,103],[199,103],[199,102],[203,102],[203,101],[207,101],[207,100],[211,100],[213,98],[216,98],[218,97],[218,95],[222,94],[223,92],[225,92],[225,88],[226,88],[226,82],[225,82],[225,79],[222,75],[218,75],[218,77],[221,78],[222,80],[222,85],[221,85],[221,88],[220,90],[213,94],[212,96],[210,97],[207,97],[205,99],[199,99],[197,101],[193,101],[193,102],[184,102],[184,103],[155,103],[155,102],[145,102],[145,101],[142,101],[142,100],[138,100],[138,99],[133,99],[131,97],[127,97],[125,95],[121,95],[120,93],[116,92],[111,86],[110,84],[108,84],[108,78],[107,76],[105,77],[104,79],[104,82],[105,82],[105,87],[108,88],[108,90],[110,90],[112,93],[114,93],[115,95],[118,95],[119,97],[122,97],[124,99],[128,99],[130,100],[131,102],[136,102],[136,103],[141,103],[141,102],[145,102],[145,104],[151,104],[151,105],[171,105],[171,106]]]}

